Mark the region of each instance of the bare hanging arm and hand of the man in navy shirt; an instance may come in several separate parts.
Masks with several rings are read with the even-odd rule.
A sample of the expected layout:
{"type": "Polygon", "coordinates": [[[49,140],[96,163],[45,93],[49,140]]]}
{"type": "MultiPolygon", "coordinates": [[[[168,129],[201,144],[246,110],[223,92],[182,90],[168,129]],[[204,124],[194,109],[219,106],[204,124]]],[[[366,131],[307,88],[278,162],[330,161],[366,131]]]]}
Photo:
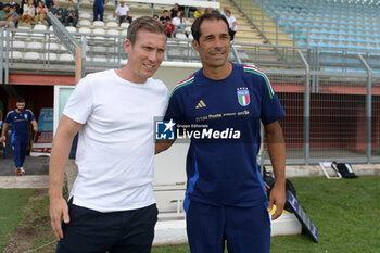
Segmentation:
{"type": "Polygon", "coordinates": [[[277,121],[264,127],[268,153],[275,174],[275,186],[270,191],[268,212],[276,204],[276,212],[271,215],[271,218],[276,219],[281,216],[286,203],[286,146],[281,126],[277,121]]]}

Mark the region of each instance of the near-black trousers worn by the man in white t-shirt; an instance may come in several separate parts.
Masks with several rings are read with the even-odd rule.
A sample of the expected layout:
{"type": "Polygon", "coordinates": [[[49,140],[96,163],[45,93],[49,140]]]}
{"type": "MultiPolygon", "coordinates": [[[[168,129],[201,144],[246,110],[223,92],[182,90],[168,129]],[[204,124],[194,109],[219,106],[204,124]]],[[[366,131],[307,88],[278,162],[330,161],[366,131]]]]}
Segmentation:
{"type": "Polygon", "coordinates": [[[156,205],[100,213],[68,202],[69,223],[56,253],[150,253],[157,220],[156,205]]]}

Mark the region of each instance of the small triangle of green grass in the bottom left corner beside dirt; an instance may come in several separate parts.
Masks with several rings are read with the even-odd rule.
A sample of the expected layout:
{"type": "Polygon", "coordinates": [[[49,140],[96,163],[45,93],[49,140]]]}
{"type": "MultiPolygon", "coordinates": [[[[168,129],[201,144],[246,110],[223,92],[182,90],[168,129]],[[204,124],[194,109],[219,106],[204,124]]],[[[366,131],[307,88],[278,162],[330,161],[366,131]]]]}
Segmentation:
{"type": "Polygon", "coordinates": [[[8,245],[28,203],[33,190],[29,189],[0,189],[0,252],[8,245]]]}

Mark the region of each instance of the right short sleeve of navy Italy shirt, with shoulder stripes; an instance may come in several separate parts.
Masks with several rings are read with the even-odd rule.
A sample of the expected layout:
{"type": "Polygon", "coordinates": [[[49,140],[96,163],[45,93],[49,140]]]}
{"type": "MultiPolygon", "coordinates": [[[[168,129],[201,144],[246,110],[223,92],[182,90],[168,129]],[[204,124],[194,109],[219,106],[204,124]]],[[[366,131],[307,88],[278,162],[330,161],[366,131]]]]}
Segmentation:
{"type": "Polygon", "coordinates": [[[263,103],[261,118],[263,124],[267,125],[282,118],[284,111],[266,76],[262,76],[262,90],[263,103]]]}

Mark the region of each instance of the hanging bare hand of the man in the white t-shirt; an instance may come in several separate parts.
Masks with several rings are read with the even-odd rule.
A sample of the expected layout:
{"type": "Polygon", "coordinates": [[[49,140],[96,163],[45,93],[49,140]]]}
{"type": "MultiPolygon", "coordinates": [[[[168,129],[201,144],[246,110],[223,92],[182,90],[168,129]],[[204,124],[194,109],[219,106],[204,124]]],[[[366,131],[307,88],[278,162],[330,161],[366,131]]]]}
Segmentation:
{"type": "Polygon", "coordinates": [[[61,240],[63,238],[61,226],[62,216],[63,222],[65,224],[68,224],[69,216],[66,201],[62,197],[59,199],[50,198],[50,223],[58,240],[61,240]]]}

